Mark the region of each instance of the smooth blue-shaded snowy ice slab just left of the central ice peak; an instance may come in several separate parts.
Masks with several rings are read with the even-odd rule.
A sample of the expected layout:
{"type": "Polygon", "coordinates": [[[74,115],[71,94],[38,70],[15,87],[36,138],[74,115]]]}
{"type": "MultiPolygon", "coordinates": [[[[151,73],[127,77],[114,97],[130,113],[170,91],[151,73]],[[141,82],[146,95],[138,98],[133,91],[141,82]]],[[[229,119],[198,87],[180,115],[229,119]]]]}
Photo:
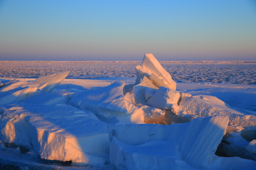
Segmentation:
{"type": "Polygon", "coordinates": [[[127,115],[130,110],[123,94],[124,82],[114,82],[109,86],[79,93],[68,102],[75,107],[90,110],[100,117],[127,115]]]}

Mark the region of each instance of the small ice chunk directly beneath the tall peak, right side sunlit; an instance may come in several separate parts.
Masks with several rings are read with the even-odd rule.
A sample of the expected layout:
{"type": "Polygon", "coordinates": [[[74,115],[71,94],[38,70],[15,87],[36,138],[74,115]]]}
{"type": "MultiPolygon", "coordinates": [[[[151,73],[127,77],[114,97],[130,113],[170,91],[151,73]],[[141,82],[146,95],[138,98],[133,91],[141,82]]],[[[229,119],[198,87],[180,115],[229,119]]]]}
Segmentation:
{"type": "Polygon", "coordinates": [[[178,104],[181,93],[166,87],[159,87],[155,94],[146,102],[148,105],[160,109],[172,109],[173,104],[178,104]]]}

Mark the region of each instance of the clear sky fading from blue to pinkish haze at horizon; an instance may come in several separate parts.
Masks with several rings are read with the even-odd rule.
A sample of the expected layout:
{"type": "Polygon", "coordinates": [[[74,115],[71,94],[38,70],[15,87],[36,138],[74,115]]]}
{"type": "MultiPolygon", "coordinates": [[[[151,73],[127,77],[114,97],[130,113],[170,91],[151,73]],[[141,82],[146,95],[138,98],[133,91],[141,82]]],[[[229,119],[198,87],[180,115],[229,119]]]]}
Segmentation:
{"type": "Polygon", "coordinates": [[[256,0],[0,0],[0,60],[256,60],[256,0]]]}

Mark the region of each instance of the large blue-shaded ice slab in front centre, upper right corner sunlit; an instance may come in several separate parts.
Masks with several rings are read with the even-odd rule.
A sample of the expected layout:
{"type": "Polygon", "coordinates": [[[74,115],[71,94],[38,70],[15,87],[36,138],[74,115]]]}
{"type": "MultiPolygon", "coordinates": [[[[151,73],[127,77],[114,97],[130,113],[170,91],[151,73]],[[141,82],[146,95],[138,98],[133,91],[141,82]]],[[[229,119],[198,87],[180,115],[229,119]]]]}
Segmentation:
{"type": "Polygon", "coordinates": [[[218,159],[215,152],[228,122],[228,117],[214,116],[166,126],[111,127],[110,162],[129,170],[203,167],[205,163],[218,159]]]}

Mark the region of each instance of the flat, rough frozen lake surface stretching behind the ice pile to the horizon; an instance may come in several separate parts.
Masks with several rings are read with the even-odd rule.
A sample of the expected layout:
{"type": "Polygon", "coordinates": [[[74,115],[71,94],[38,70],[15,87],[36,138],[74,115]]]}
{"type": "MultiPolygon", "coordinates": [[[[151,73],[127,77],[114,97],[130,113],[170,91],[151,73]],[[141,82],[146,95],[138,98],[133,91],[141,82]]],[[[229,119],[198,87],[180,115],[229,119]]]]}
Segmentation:
{"type": "MultiPolygon", "coordinates": [[[[136,77],[141,61],[0,61],[0,77],[37,78],[71,72],[67,78],[136,77]]],[[[256,85],[256,61],[160,61],[176,82],[256,85]]]]}

